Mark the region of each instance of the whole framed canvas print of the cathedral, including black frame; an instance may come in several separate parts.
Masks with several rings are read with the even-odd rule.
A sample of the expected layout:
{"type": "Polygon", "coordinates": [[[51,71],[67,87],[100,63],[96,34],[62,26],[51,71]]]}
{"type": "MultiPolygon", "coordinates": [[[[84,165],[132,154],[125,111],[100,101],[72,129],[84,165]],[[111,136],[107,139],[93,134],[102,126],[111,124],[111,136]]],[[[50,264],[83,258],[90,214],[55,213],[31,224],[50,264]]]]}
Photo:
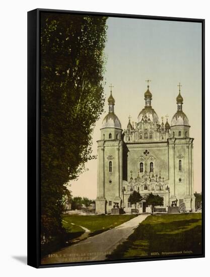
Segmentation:
{"type": "Polygon", "coordinates": [[[204,20],[28,12],[28,264],[204,257],[204,20]]]}

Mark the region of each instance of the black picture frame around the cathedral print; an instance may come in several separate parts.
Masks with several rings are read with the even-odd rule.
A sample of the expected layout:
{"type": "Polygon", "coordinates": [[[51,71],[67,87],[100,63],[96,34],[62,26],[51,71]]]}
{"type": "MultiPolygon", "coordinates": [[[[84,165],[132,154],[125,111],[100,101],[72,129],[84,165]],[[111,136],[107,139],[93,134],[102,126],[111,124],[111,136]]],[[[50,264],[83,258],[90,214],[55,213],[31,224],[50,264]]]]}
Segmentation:
{"type": "Polygon", "coordinates": [[[35,9],[28,12],[28,265],[43,268],[54,266],[75,266],[88,264],[108,264],[134,261],[183,259],[204,257],[204,199],[205,199],[205,20],[192,18],[159,17],[35,9]],[[202,254],[173,257],[152,257],[123,260],[88,261],[59,264],[41,264],[40,255],[40,15],[41,13],[67,13],[73,15],[107,16],[131,19],[152,19],[164,21],[197,22],[202,24],[202,254]]]}

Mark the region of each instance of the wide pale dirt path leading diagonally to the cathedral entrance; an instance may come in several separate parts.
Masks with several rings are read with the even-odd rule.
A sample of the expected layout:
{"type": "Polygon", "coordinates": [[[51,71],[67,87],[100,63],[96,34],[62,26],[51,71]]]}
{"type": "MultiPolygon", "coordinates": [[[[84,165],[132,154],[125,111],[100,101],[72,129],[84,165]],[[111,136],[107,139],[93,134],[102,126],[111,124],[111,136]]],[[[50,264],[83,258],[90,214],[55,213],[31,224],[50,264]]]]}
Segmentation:
{"type": "Polygon", "coordinates": [[[104,260],[149,215],[139,215],[111,230],[65,247],[42,259],[42,264],[104,260]]]}

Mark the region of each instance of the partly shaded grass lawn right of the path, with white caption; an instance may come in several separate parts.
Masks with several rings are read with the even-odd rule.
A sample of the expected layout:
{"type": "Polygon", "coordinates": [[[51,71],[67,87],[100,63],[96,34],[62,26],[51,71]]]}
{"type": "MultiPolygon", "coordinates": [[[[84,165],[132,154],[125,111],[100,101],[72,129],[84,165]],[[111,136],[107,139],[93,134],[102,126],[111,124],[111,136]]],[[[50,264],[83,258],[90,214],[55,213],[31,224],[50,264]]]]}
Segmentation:
{"type": "Polygon", "coordinates": [[[107,259],[201,254],[201,238],[200,213],[153,215],[107,259]]]}

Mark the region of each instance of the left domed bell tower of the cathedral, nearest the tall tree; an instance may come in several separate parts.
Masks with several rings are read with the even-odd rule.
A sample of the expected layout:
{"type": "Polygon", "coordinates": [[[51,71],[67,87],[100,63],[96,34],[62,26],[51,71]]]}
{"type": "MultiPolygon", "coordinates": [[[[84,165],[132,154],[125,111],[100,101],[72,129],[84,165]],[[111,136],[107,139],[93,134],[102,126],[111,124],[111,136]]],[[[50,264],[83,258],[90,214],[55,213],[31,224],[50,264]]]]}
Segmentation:
{"type": "Polygon", "coordinates": [[[121,204],[122,188],[122,129],[114,113],[115,100],[110,86],[109,112],[102,122],[101,140],[98,141],[98,175],[96,213],[106,214],[114,203],[121,204]]]}

